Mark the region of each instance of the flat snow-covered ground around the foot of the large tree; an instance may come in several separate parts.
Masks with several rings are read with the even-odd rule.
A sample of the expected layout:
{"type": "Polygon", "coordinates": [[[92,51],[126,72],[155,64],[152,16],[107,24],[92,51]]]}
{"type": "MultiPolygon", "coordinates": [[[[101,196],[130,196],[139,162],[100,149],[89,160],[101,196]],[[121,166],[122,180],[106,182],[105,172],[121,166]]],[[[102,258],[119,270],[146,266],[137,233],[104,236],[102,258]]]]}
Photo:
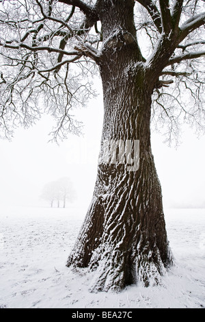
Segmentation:
{"type": "Polygon", "coordinates": [[[165,210],[176,266],[163,286],[90,293],[93,274],[66,267],[85,210],[0,209],[0,308],[204,308],[205,210],[165,210]]]}

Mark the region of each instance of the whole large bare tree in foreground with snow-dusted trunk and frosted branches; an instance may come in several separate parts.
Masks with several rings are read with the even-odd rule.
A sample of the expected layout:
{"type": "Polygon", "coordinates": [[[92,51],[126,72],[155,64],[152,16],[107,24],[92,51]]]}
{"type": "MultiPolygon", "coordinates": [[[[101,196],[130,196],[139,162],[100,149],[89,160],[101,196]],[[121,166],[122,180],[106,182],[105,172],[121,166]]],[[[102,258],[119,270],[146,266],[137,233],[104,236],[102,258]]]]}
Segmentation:
{"type": "Polygon", "coordinates": [[[150,128],[163,126],[169,142],[178,140],[183,123],[204,131],[204,7],[202,0],[1,3],[5,136],[43,112],[56,119],[54,139],[79,134],[72,109],[94,95],[90,76],[102,80],[96,186],[68,258],[68,267],[96,271],[91,290],[159,284],[173,264],[150,128]],[[128,171],[135,142],[139,162],[128,171]],[[107,162],[105,143],[116,143],[118,162],[107,162]]]}

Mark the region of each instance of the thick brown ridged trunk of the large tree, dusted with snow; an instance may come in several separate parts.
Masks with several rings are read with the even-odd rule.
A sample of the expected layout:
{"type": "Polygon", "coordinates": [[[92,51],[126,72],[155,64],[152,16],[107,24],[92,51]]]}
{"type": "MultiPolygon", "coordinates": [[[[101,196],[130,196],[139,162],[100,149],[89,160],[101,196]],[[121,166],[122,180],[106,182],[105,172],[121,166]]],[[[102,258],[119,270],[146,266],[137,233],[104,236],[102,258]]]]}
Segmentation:
{"type": "MultiPolygon", "coordinates": [[[[120,0],[121,4],[132,2],[120,0]]],[[[92,290],[120,290],[137,281],[145,286],[157,284],[172,264],[161,185],[150,147],[151,97],[156,79],[150,79],[151,74],[139,62],[141,54],[133,27],[122,21],[123,28],[113,32],[117,9],[115,6],[110,32],[104,26],[107,38],[99,62],[105,114],[96,186],[68,258],[68,266],[96,269],[92,290]],[[110,149],[105,151],[105,143],[110,142],[122,143],[114,150],[114,158],[110,149]],[[132,158],[137,160],[133,154],[136,151],[127,148],[131,147],[128,143],[135,142],[139,142],[137,166],[131,164],[132,158]],[[105,162],[105,153],[109,162],[105,162]]],[[[124,10],[131,8],[125,5],[124,10]]],[[[123,16],[129,21],[128,12],[123,16]]],[[[103,27],[103,17],[101,21],[103,27]]]]}

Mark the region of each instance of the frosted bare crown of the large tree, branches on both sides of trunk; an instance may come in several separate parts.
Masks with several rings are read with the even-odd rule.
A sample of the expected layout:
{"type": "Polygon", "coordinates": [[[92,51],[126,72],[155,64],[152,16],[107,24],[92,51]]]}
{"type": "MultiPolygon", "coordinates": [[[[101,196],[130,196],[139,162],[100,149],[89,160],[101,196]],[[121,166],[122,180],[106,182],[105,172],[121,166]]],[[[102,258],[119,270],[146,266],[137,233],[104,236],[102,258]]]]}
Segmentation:
{"type": "MultiPolygon", "coordinates": [[[[111,10],[116,0],[104,1],[111,10]]],[[[168,140],[177,138],[184,122],[203,130],[204,1],[127,1],[134,3],[139,62],[157,76],[153,124],[165,125],[168,140]]],[[[53,138],[79,134],[81,123],[72,110],[95,94],[90,76],[98,73],[105,48],[118,49],[121,41],[117,13],[111,32],[102,29],[107,13],[100,12],[101,4],[102,0],[1,1],[3,137],[10,138],[18,125],[35,123],[44,112],[55,117],[53,138]]]]}

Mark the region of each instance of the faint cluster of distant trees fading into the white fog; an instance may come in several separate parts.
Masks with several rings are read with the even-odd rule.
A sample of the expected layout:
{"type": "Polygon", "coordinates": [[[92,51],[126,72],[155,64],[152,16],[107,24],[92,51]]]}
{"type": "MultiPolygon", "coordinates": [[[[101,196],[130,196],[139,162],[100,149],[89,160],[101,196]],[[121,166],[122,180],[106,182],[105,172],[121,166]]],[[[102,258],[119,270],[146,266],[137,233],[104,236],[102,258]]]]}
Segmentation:
{"type": "Polygon", "coordinates": [[[72,182],[68,177],[61,177],[56,181],[49,182],[42,190],[41,198],[49,201],[51,208],[57,205],[66,208],[66,201],[72,203],[76,197],[72,182]]]}

